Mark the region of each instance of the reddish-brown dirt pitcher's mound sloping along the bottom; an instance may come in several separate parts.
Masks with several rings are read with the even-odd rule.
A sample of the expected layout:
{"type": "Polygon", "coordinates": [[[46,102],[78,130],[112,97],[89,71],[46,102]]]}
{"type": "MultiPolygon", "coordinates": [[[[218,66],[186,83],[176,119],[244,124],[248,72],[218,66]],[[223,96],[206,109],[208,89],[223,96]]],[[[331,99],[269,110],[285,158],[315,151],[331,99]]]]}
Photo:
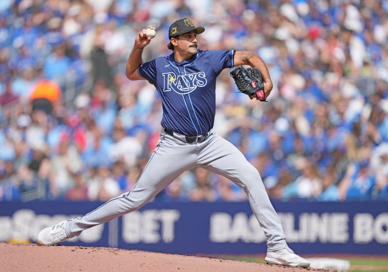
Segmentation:
{"type": "Polygon", "coordinates": [[[291,268],[209,257],[161,254],[102,247],[0,243],[4,272],[298,272],[291,268]]]}

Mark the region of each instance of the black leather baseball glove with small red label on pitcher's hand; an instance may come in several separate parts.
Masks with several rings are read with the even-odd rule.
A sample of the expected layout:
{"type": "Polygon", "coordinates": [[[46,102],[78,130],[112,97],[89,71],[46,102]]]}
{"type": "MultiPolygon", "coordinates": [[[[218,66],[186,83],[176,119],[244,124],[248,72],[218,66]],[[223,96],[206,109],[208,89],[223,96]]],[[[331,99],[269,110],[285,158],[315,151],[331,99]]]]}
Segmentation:
{"type": "Polygon", "coordinates": [[[239,92],[248,95],[251,99],[265,101],[264,83],[258,68],[244,68],[239,66],[230,71],[230,76],[239,89],[239,92]]]}

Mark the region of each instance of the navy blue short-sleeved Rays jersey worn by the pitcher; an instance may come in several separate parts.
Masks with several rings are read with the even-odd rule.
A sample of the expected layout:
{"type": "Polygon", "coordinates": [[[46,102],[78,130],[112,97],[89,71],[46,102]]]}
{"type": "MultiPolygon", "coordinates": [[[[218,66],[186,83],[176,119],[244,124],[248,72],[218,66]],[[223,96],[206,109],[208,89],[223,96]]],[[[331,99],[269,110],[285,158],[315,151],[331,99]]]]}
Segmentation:
{"type": "Polygon", "coordinates": [[[181,63],[174,53],[144,62],[141,77],[154,85],[163,105],[162,126],[186,136],[210,131],[215,115],[215,83],[225,68],[234,67],[234,50],[197,50],[181,63]]]}

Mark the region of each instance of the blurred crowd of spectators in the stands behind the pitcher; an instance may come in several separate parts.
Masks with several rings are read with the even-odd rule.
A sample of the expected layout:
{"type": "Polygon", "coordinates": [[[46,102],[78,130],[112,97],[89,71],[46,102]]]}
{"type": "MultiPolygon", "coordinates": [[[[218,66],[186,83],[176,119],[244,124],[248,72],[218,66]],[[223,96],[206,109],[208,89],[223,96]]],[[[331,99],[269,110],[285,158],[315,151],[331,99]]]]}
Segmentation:
{"type": "MultiPolygon", "coordinates": [[[[217,79],[214,130],[259,170],[273,199],[388,200],[388,0],[1,0],[0,200],[105,201],[130,190],[161,130],[154,86],[131,82],[169,54],[167,28],[190,17],[204,50],[255,51],[268,103],[217,79]]],[[[196,168],[162,201],[244,201],[196,168]]]]}

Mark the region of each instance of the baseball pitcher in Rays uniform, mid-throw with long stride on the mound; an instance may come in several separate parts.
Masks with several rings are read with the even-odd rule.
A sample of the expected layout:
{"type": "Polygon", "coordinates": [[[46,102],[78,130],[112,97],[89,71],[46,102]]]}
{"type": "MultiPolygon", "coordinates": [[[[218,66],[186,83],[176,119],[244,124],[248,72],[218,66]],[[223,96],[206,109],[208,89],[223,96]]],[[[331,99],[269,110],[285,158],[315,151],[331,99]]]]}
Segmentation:
{"type": "MultiPolygon", "coordinates": [[[[152,26],[149,29],[155,30],[152,26]]],[[[272,90],[268,69],[251,51],[202,51],[197,35],[205,31],[190,19],[175,21],[168,30],[173,52],[143,62],[150,43],[146,29],[140,32],[129,55],[126,75],[130,80],[147,80],[162,99],[163,117],[159,143],[132,190],[97,209],[53,227],[45,228],[37,243],[52,245],[78,236],[85,229],[135,211],[149,202],[181,173],[195,167],[226,176],[248,195],[249,203],[267,238],[270,264],[308,267],[306,259],[287,246],[279,218],[265,191],[260,174],[243,154],[213,130],[216,78],[225,68],[240,92],[266,101],[272,90]],[[248,65],[252,68],[243,68],[248,65]]]]}

